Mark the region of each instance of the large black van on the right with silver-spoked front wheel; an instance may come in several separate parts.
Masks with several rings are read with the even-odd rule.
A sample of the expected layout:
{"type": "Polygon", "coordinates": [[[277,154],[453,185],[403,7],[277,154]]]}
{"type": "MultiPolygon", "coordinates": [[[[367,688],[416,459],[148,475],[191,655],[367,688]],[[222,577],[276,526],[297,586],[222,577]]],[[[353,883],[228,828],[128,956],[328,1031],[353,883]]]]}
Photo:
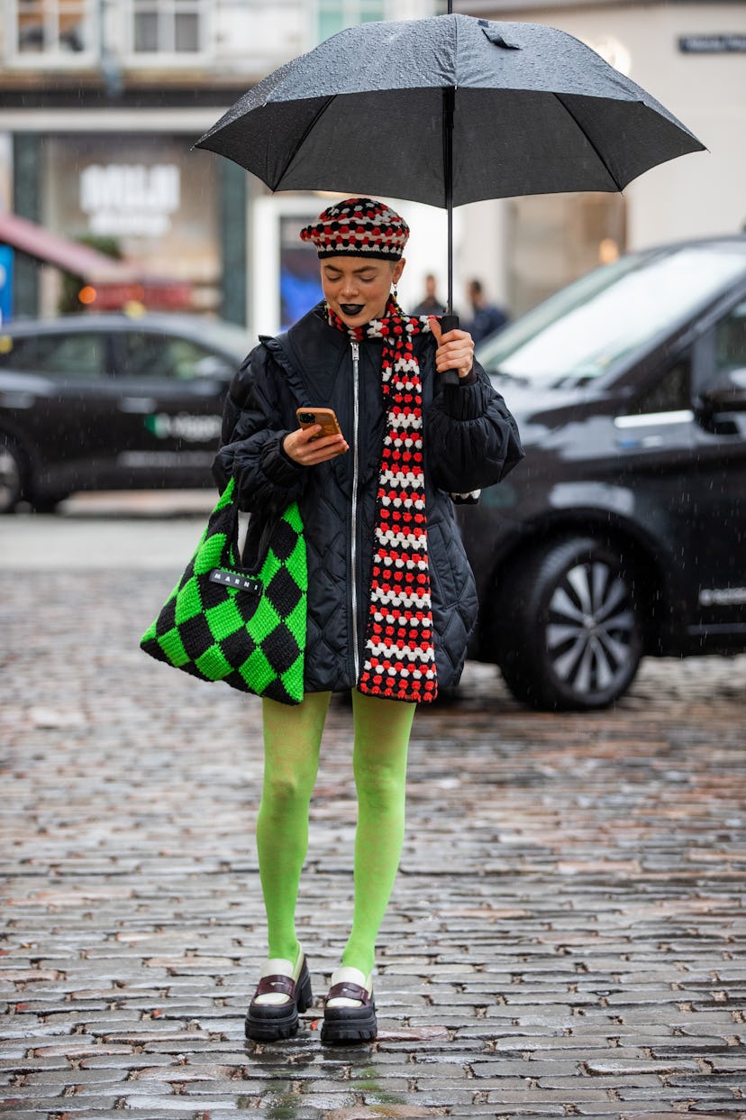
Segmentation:
{"type": "Polygon", "coordinates": [[[593,709],[645,654],[746,650],[746,237],[623,256],[478,356],[527,457],[461,511],[472,656],[593,709]]]}

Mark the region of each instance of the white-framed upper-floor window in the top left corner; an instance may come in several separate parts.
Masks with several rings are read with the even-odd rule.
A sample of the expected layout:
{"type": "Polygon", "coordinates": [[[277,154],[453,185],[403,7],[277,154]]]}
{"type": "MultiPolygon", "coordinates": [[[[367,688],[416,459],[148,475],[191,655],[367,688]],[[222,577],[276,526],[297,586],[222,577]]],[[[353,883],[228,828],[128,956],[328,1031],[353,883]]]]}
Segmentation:
{"type": "Polygon", "coordinates": [[[82,62],[93,50],[93,0],[11,0],[15,54],[59,63],[82,62]]]}

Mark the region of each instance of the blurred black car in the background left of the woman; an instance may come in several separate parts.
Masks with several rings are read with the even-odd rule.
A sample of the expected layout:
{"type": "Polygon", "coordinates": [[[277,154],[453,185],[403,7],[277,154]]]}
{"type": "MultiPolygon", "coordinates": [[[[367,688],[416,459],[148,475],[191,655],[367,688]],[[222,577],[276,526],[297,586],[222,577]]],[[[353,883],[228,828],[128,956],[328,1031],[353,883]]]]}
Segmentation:
{"type": "Polygon", "coordinates": [[[0,512],[74,491],[213,486],[223,400],[251,347],[198,316],[0,326],[0,512]]]}

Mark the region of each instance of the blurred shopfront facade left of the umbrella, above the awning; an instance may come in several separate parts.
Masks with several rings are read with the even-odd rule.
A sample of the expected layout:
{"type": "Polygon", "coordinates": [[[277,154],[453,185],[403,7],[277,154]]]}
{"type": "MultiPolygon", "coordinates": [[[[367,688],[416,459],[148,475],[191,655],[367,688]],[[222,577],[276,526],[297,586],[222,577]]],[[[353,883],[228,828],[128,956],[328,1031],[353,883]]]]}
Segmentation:
{"type": "MultiPolygon", "coordinates": [[[[252,326],[287,235],[252,176],[191,146],[251,85],[346,26],[431,0],[0,0],[0,211],[114,243],[187,281],[196,311],[252,326]]],[[[278,198],[280,196],[277,196],[278,198]]],[[[318,213],[315,198],[296,205],[318,213]]],[[[299,218],[300,221],[300,218],[299,218]]],[[[54,314],[57,269],[16,253],[12,310],[54,314]]],[[[264,326],[280,314],[272,301],[264,326]]]]}

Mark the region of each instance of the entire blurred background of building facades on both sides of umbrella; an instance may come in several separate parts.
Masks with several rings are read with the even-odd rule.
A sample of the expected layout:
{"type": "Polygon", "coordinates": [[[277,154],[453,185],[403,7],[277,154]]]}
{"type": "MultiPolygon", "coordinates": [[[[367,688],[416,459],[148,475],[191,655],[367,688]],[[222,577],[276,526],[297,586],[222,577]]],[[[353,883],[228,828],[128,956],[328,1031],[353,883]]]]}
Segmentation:
{"type": "MultiPolygon", "coordinates": [[[[729,233],[746,220],[746,3],[455,0],[468,15],[550,24],[649,90],[707,146],[623,195],[484,202],[455,214],[455,304],[482,280],[512,315],[625,249],[729,233]]],[[[323,200],[268,192],[195,140],[246,88],[344,26],[444,0],[0,0],[0,211],[188,282],[192,307],[276,330],[314,295],[298,230],[323,200]]],[[[396,203],[396,200],[393,200],[396,203]]],[[[445,217],[413,227],[400,293],[445,288],[445,217]]],[[[16,254],[13,312],[57,306],[58,273],[16,254]]]]}

